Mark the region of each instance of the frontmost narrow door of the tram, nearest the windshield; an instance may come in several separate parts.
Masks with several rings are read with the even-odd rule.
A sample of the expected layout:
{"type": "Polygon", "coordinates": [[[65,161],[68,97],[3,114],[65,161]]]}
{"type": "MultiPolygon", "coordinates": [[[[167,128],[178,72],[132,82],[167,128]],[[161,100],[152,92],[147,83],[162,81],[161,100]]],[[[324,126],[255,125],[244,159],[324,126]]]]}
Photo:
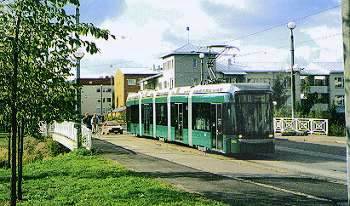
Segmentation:
{"type": "Polygon", "coordinates": [[[217,150],[223,150],[222,108],[222,104],[211,104],[210,108],[212,148],[217,150]]]}

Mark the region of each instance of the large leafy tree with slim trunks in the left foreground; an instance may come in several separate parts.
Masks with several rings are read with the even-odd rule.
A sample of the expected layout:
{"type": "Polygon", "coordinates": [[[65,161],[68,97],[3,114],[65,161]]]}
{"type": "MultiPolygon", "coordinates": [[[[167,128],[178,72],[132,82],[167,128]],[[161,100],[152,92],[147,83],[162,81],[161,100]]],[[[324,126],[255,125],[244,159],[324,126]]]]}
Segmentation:
{"type": "Polygon", "coordinates": [[[22,199],[21,184],[16,195],[17,131],[18,157],[22,158],[24,132],[37,133],[39,121],[75,119],[77,85],[67,81],[75,67],[73,53],[81,47],[90,54],[98,52],[94,42],[81,36],[115,38],[92,24],[76,25],[75,15],[66,12],[68,6],[79,6],[79,0],[0,2],[0,74],[4,76],[0,102],[1,109],[9,108],[11,113],[11,205],[16,204],[16,197],[22,199]]]}

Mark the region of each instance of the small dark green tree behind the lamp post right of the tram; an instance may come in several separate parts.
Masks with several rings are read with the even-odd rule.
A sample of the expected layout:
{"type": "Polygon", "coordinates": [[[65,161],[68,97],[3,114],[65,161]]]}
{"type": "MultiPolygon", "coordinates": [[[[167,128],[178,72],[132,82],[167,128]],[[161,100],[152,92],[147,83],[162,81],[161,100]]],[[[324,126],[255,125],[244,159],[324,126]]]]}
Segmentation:
{"type": "Polygon", "coordinates": [[[278,74],[276,76],[276,79],[274,79],[274,81],[273,81],[272,100],[276,101],[276,103],[277,103],[276,109],[277,110],[280,110],[282,107],[285,106],[285,103],[289,97],[289,95],[287,94],[287,92],[288,92],[287,87],[286,87],[287,83],[288,83],[288,77],[283,75],[283,74],[278,74]]]}

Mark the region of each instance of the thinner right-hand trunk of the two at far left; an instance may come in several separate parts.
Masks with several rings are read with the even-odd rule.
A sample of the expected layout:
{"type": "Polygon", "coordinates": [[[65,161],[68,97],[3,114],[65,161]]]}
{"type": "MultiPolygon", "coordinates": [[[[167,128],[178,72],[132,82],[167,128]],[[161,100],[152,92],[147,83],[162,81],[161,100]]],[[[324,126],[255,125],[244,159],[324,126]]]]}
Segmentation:
{"type": "Polygon", "coordinates": [[[22,176],[23,176],[23,139],[24,139],[24,120],[22,118],[18,129],[18,182],[17,182],[17,199],[22,200],[22,176]]]}

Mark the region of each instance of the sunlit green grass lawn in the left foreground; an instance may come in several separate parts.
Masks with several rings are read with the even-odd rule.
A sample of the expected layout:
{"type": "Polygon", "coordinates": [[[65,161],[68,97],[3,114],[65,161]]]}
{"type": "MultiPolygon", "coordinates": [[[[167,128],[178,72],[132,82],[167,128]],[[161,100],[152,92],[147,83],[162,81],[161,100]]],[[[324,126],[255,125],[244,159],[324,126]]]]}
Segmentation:
{"type": "MultiPolygon", "coordinates": [[[[0,205],[8,202],[9,175],[0,169],[0,205]]],[[[221,205],[77,153],[25,165],[24,175],[25,200],[19,205],[221,205]]]]}

